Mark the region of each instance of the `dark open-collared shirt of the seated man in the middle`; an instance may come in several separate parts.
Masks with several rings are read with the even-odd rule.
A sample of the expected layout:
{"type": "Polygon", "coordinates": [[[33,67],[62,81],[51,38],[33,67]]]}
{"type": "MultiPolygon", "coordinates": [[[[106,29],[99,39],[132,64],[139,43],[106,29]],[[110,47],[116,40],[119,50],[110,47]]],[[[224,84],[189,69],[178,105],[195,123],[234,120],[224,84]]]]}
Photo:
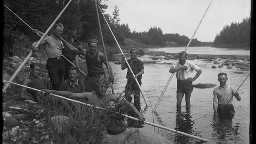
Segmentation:
{"type": "Polygon", "coordinates": [[[76,84],[72,84],[69,79],[64,80],[59,88],[59,91],[68,91],[73,93],[85,92],[84,83],[81,83],[80,80],[76,81],[76,84]]]}

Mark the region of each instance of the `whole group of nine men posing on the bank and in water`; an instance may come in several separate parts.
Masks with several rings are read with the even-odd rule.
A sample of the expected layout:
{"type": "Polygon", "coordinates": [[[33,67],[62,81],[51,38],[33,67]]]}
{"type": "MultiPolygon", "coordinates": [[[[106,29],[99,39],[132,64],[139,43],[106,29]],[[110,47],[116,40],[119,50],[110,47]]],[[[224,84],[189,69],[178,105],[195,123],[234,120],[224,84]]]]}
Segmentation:
{"type": "MultiPolygon", "coordinates": [[[[117,96],[106,94],[106,89],[109,87],[108,80],[105,78],[105,73],[103,69],[103,64],[107,66],[105,56],[102,52],[96,50],[98,47],[98,40],[91,39],[88,40],[88,50],[85,50],[80,45],[79,41],[76,39],[77,27],[71,25],[68,28],[68,35],[62,36],[63,32],[62,24],[55,24],[53,27],[53,34],[51,36],[45,37],[40,44],[44,44],[46,54],[48,56],[47,60],[47,70],[52,83],[52,93],[59,94],[71,98],[84,98],[94,105],[101,105],[103,101],[116,101],[121,102],[117,96]],[[79,55],[84,55],[88,68],[88,75],[84,83],[78,80],[79,73],[79,55]],[[65,56],[69,61],[75,61],[76,66],[72,66],[70,62],[63,58],[65,56]],[[63,81],[64,80],[64,81],[63,81]]],[[[37,41],[38,42],[38,41],[37,41]]],[[[36,48],[37,42],[32,44],[33,52],[38,52],[36,48]]],[[[144,121],[144,117],[140,114],[140,85],[142,74],[144,73],[144,65],[141,60],[137,58],[137,49],[132,48],[130,50],[131,59],[128,60],[128,64],[123,58],[121,64],[121,69],[128,69],[128,65],[132,68],[132,72],[135,77],[133,77],[132,72],[127,70],[127,84],[125,86],[125,104],[128,104],[133,111],[137,114],[140,121],[144,121]],[[135,78],[138,80],[139,85],[136,83],[135,78]],[[133,105],[130,104],[132,101],[132,95],[134,96],[133,105]]],[[[110,64],[108,64],[110,69],[110,81],[113,81],[113,72],[110,64]]],[[[25,78],[23,85],[40,85],[38,89],[46,88],[39,84],[41,79],[39,78],[40,67],[38,65],[30,67],[30,77],[25,78]]],[[[181,108],[181,102],[185,95],[186,109],[190,109],[190,97],[193,90],[192,82],[195,81],[202,70],[194,63],[187,60],[187,53],[179,53],[179,61],[174,63],[169,72],[176,72],[177,78],[177,109],[181,108]],[[196,75],[192,77],[193,71],[196,71],[196,75]]],[[[232,99],[234,95],[237,100],[240,100],[238,92],[234,91],[232,86],[226,84],[227,75],[219,74],[218,80],[220,81],[220,86],[214,89],[214,101],[213,108],[215,115],[218,113],[228,113],[234,115],[234,109],[232,106],[232,99]],[[218,106],[217,106],[218,103],[218,106]],[[224,104],[224,106],[223,106],[224,104]]],[[[26,88],[22,88],[20,92],[21,99],[30,100],[41,100],[42,95],[37,94],[36,97],[28,96],[28,93],[36,95],[37,92],[26,92],[26,88]]],[[[50,91],[49,91],[50,92],[50,91]]]]}

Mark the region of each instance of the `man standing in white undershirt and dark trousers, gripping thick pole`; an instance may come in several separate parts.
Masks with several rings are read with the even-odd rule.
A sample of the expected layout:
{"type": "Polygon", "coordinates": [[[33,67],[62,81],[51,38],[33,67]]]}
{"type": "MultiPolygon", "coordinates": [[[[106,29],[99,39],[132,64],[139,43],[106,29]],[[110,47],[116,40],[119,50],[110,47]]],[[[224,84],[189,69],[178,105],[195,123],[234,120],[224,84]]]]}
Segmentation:
{"type": "MultiPolygon", "coordinates": [[[[51,36],[44,37],[41,44],[44,44],[45,51],[48,57],[46,62],[46,68],[49,73],[49,77],[52,83],[52,89],[57,90],[60,83],[64,80],[65,63],[62,57],[62,49],[64,48],[63,42],[59,39],[63,32],[63,25],[61,23],[53,26],[53,34],[51,36]]],[[[32,44],[32,51],[38,52],[36,48],[38,41],[32,44]]],[[[71,49],[73,51],[73,49],[71,49]]]]}

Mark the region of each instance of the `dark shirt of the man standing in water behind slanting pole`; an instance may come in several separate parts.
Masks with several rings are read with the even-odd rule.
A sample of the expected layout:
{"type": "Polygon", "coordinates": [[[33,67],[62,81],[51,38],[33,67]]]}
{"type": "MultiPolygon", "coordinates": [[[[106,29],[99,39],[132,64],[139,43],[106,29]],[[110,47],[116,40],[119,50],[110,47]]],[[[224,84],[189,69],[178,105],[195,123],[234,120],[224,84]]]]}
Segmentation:
{"type": "MultiPolygon", "coordinates": [[[[136,75],[142,69],[144,69],[142,61],[139,60],[137,57],[133,61],[132,61],[132,58],[127,60],[127,61],[128,61],[128,64],[131,66],[132,72],[134,73],[134,75],[136,75]]],[[[128,67],[126,63],[125,63],[125,66],[126,66],[126,68],[128,67]]],[[[132,72],[130,71],[129,68],[127,69],[127,74],[126,74],[126,79],[127,80],[132,80],[133,79],[132,72]]],[[[138,76],[137,80],[140,80],[141,78],[142,78],[142,75],[138,76]]]]}

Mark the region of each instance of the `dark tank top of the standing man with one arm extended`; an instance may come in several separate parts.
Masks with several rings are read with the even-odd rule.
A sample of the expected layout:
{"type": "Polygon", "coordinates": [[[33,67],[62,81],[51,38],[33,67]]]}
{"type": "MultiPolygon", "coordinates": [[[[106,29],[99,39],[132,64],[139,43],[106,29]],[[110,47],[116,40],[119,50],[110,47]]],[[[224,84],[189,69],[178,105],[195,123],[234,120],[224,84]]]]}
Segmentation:
{"type": "Polygon", "coordinates": [[[88,76],[95,76],[96,74],[105,74],[102,62],[98,61],[99,51],[96,52],[96,56],[89,57],[88,50],[86,51],[86,64],[88,68],[88,76]]]}

